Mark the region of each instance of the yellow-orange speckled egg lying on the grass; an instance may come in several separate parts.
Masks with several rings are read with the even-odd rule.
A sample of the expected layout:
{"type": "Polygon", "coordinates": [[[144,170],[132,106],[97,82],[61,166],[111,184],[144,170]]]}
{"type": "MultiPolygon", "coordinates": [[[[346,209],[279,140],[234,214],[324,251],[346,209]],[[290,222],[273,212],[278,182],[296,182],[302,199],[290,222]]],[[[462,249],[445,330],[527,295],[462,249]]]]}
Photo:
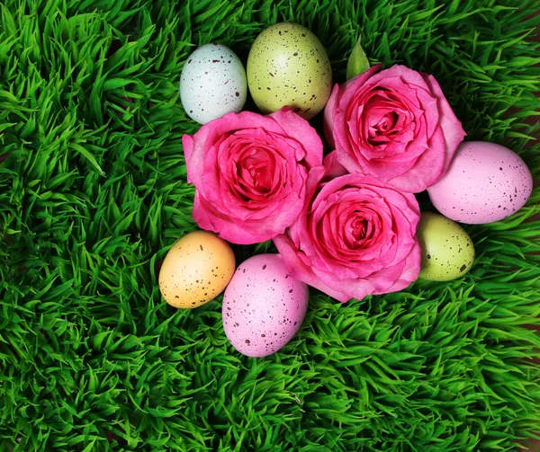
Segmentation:
{"type": "Polygon", "coordinates": [[[194,231],[176,241],[159,270],[159,290],[175,307],[191,309],[220,295],[234,273],[229,244],[207,231],[194,231]]]}

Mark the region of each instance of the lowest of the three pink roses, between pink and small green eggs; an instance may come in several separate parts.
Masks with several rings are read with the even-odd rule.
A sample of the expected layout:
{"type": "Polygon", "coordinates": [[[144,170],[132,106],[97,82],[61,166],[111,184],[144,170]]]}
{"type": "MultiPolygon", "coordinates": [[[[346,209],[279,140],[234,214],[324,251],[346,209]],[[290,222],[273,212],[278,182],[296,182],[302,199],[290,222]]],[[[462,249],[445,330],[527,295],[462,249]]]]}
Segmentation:
{"type": "Polygon", "coordinates": [[[302,215],[275,246],[293,278],[342,302],[406,288],[420,270],[417,200],[371,175],[340,172],[335,157],[311,170],[302,215]]]}

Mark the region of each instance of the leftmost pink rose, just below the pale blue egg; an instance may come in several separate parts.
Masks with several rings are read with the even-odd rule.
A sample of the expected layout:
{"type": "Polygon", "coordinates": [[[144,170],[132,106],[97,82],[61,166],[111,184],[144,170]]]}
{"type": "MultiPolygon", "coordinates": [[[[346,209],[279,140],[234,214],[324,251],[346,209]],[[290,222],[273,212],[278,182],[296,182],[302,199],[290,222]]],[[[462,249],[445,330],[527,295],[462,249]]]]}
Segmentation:
{"type": "Polygon", "coordinates": [[[302,211],[308,171],[322,164],[319,135],[288,108],[229,113],[182,143],[193,219],[233,244],[283,234],[302,211]]]}

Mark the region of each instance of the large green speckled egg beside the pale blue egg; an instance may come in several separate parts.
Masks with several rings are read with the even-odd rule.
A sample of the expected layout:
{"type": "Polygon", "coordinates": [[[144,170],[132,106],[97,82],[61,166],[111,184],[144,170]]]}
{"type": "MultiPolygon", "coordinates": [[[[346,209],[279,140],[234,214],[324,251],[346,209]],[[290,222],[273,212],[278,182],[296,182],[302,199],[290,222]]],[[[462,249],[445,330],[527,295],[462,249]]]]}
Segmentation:
{"type": "Polygon", "coordinates": [[[329,57],[320,40],[302,25],[276,23],[257,36],[249,51],[247,85],[263,113],[289,106],[310,120],[329,100],[329,57]]]}

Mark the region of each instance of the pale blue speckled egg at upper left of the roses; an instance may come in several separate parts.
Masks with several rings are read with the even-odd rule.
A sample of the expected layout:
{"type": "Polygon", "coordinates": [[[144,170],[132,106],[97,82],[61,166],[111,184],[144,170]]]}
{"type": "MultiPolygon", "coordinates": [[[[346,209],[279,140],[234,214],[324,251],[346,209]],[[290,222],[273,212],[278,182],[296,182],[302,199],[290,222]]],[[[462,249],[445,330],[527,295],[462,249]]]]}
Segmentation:
{"type": "Polygon", "coordinates": [[[236,54],[222,44],[196,49],[184,63],[180,100],[200,124],[242,111],[247,98],[246,71],[236,54]]]}

